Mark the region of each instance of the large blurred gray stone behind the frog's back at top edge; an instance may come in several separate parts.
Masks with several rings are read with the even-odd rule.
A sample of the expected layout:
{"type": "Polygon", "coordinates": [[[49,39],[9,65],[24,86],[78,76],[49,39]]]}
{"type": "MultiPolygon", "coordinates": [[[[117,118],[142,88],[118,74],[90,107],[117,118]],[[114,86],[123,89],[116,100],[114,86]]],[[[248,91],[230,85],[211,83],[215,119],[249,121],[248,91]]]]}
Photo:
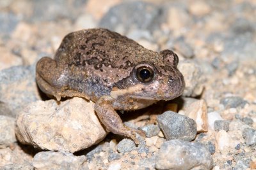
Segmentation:
{"type": "Polygon", "coordinates": [[[100,27],[115,31],[122,26],[127,29],[152,29],[161,15],[160,8],[143,1],[127,1],[110,8],[100,20],[100,27]]]}

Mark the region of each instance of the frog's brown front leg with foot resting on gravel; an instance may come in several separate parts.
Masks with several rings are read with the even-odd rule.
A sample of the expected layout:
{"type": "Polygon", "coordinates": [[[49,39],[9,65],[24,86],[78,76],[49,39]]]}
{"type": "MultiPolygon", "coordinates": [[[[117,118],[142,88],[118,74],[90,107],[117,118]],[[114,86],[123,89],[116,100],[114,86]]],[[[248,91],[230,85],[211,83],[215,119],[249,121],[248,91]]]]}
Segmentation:
{"type": "Polygon", "coordinates": [[[136,138],[136,133],[140,134],[145,138],[145,133],[138,129],[131,129],[123,124],[121,118],[116,113],[115,109],[118,110],[120,107],[113,104],[115,101],[112,97],[102,96],[95,103],[95,111],[100,118],[100,122],[106,126],[108,131],[113,132],[114,134],[120,134],[131,138],[136,144],[139,144],[140,141],[136,138]]]}

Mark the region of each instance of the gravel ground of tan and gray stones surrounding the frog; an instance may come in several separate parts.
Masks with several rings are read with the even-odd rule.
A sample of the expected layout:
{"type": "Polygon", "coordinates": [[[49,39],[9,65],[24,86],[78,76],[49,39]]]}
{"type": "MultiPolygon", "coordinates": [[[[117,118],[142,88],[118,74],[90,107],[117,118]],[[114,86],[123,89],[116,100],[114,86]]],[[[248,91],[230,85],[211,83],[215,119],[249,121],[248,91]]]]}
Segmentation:
{"type": "MultiPolygon", "coordinates": [[[[255,16],[251,0],[0,1],[0,169],[256,169],[255,16]],[[36,87],[36,62],[69,32],[93,27],[179,55],[184,94],[121,114],[147,134],[140,145],[107,135],[99,122],[79,134],[58,115],[41,118],[59,106],[36,87]],[[55,138],[60,129],[47,123],[70,138],[55,138]]],[[[75,98],[61,113],[94,121],[71,114],[76,101],[93,108],[75,98]]]]}

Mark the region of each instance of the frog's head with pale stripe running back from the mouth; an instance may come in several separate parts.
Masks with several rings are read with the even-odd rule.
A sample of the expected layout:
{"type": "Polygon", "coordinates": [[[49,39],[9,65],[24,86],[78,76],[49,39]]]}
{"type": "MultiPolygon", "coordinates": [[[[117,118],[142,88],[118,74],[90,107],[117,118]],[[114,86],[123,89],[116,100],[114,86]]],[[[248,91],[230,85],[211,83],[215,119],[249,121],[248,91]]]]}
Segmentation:
{"type": "Polygon", "coordinates": [[[177,68],[178,56],[171,50],[154,54],[134,64],[130,75],[115,83],[111,96],[147,101],[179,97],[184,91],[185,82],[177,68]]]}

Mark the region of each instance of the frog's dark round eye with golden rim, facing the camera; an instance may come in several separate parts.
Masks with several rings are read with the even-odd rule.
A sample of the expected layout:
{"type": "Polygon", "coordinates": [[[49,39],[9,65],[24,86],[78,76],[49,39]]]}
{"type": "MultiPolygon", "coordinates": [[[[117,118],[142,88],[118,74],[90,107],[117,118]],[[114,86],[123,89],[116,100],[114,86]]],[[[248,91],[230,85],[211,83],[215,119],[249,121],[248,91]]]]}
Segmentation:
{"type": "Polygon", "coordinates": [[[148,66],[141,66],[137,68],[136,77],[139,81],[146,83],[154,78],[154,71],[148,66]]]}

